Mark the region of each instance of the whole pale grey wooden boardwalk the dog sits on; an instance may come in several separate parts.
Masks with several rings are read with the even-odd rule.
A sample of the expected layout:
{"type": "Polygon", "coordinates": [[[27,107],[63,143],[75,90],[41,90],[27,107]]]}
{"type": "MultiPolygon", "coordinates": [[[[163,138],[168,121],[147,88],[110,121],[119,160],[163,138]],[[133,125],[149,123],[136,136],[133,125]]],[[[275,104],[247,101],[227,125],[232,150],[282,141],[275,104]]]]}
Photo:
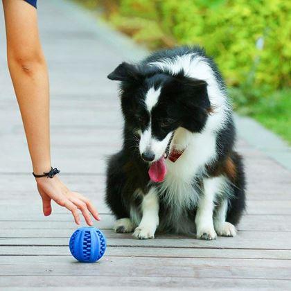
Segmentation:
{"type": "MultiPolygon", "coordinates": [[[[180,236],[136,240],[116,234],[103,202],[105,156],[121,145],[116,84],[106,79],[125,54],[86,12],[60,0],[39,1],[39,22],[51,76],[53,166],[64,182],[94,201],[96,227],[107,236],[105,257],[81,264],[69,254],[76,229],[53,206],[42,216],[4,57],[0,16],[0,289],[159,288],[291,290],[291,173],[249,145],[245,156],[247,214],[236,238],[180,236]],[[93,21],[93,25],[89,25],[93,21]]],[[[259,134],[259,132],[258,132],[259,134]]]]}

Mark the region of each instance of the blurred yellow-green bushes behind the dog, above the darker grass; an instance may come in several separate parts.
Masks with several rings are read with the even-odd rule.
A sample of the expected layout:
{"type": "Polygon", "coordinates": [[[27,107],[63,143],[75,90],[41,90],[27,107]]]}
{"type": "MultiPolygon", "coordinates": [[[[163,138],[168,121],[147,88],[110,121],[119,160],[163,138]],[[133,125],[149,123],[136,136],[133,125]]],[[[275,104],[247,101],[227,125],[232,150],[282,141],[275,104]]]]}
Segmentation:
{"type": "Polygon", "coordinates": [[[118,5],[110,17],[117,27],[136,30],[134,19],[140,25],[132,35],[150,48],[204,46],[229,85],[267,91],[290,85],[290,1],[119,0],[118,5]]]}

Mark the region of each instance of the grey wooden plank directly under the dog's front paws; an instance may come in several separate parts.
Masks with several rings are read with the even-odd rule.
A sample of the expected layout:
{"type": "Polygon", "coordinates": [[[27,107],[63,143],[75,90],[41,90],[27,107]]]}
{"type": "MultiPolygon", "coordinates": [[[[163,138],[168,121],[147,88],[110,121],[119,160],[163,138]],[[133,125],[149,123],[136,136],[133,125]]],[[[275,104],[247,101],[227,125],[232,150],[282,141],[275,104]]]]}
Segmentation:
{"type": "MultiPolygon", "coordinates": [[[[106,231],[105,231],[106,232],[106,231]]],[[[107,233],[107,245],[112,247],[177,247],[217,249],[288,249],[291,250],[291,233],[270,231],[240,231],[235,238],[197,240],[182,236],[157,235],[155,240],[136,240],[130,233],[107,233]]],[[[0,246],[55,245],[66,246],[69,238],[1,238],[0,246]]]]}

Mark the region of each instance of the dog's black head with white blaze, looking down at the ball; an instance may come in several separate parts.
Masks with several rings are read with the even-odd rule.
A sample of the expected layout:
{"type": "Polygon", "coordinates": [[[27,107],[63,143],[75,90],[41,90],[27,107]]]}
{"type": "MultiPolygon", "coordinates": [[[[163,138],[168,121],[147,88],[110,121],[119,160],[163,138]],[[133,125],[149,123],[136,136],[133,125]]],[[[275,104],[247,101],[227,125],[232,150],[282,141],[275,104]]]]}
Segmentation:
{"type": "Polygon", "coordinates": [[[143,65],[123,62],[110,80],[121,81],[121,103],[127,127],[140,136],[141,157],[155,163],[168,155],[175,130],[184,127],[201,132],[211,107],[207,83],[184,76],[176,76],[143,65]]]}

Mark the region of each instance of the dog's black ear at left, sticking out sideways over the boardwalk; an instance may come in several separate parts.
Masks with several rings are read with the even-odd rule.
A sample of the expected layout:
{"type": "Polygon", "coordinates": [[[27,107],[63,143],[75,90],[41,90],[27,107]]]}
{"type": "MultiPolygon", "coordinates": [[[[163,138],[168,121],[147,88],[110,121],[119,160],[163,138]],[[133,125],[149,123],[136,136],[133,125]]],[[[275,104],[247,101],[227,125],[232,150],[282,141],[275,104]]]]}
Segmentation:
{"type": "Polygon", "coordinates": [[[133,64],[122,62],[116,69],[109,73],[108,79],[114,81],[136,81],[141,77],[138,69],[133,64]]]}

